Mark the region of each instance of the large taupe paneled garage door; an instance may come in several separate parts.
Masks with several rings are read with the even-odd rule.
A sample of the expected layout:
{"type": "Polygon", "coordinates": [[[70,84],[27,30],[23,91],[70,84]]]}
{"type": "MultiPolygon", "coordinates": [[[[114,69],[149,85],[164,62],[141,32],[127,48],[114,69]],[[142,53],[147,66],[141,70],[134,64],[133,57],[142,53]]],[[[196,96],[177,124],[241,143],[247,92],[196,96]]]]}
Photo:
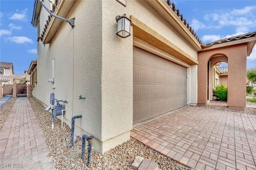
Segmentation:
{"type": "Polygon", "coordinates": [[[133,47],[133,124],[186,106],[187,69],[133,47]]]}

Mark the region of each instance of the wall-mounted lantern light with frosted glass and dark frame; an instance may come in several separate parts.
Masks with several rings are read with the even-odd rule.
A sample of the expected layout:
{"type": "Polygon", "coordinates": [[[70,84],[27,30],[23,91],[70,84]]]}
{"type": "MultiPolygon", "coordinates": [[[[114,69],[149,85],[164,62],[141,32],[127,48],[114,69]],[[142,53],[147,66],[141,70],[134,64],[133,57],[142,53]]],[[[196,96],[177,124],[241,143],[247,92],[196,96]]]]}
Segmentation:
{"type": "Polygon", "coordinates": [[[131,26],[131,20],[126,17],[126,14],[123,16],[116,16],[116,22],[117,22],[117,33],[116,35],[122,38],[129,37],[130,34],[130,26],[131,26]]]}

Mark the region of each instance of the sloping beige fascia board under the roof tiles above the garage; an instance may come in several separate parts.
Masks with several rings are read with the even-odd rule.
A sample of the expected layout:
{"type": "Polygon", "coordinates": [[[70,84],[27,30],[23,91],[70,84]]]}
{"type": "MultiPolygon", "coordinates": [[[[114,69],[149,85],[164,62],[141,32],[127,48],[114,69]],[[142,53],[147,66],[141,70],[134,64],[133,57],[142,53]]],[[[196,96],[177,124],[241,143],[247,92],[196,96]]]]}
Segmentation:
{"type": "Polygon", "coordinates": [[[156,2],[158,2],[158,4],[169,14],[169,16],[174,19],[174,21],[176,22],[176,24],[178,24],[178,26],[180,26],[182,31],[186,32],[186,34],[189,36],[189,38],[194,42],[193,45],[196,45],[196,49],[202,50],[202,47],[198,43],[196,38],[191,34],[191,32],[184,25],[184,23],[180,20],[180,18],[177,16],[177,14],[168,6],[168,4],[165,2],[165,0],[156,0],[156,2]]]}

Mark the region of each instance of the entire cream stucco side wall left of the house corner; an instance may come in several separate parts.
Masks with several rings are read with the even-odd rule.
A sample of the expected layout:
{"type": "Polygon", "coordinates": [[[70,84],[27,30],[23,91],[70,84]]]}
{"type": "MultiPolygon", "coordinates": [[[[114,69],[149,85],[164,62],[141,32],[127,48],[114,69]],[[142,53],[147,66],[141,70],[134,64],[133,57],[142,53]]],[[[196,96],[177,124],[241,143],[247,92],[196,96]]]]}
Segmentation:
{"type": "MultiPolygon", "coordinates": [[[[38,82],[33,95],[37,99],[46,99],[42,101],[46,105],[50,105],[50,93],[55,93],[56,99],[68,100],[64,104],[67,109],[64,117],[71,121],[73,116],[82,115],[82,119],[76,120],[76,125],[101,140],[101,30],[98,30],[101,28],[101,18],[91,22],[91,18],[94,21],[97,19],[94,12],[101,11],[96,2],[100,3],[86,1],[76,4],[74,13],[67,16],[76,16],[76,29],[64,22],[50,44],[43,45],[39,42],[38,77],[43,82],[38,82]],[[52,85],[48,80],[52,78],[53,58],[55,79],[52,85]],[[79,100],[80,95],[86,99],[79,100]]],[[[70,125],[69,121],[64,121],[70,125]]]]}

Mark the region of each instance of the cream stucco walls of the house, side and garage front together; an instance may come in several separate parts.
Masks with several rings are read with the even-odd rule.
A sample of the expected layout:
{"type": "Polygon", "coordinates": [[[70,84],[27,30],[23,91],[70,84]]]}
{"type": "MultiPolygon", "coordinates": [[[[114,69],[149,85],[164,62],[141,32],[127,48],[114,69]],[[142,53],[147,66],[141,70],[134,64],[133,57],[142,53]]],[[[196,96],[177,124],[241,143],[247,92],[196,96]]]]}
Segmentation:
{"type": "MultiPolygon", "coordinates": [[[[197,51],[146,1],[127,1],[126,7],[118,1],[77,1],[65,16],[76,17],[76,27],[72,29],[63,22],[49,44],[38,42],[38,83],[33,96],[44,105],[50,105],[50,93],[55,93],[57,99],[68,100],[64,104],[67,110],[64,122],[70,126],[72,116],[82,115],[75,120],[75,133],[94,135],[94,148],[100,152],[128,140],[132,129],[133,38],[116,36],[116,16],[124,13],[136,16],[186,53],[197,57],[197,51]],[[55,80],[52,85],[48,80],[52,77],[53,58],[55,80]],[[80,100],[80,95],[86,99],[80,100]]],[[[194,93],[191,97],[194,103],[197,66],[191,68],[190,91],[194,93]]]]}

